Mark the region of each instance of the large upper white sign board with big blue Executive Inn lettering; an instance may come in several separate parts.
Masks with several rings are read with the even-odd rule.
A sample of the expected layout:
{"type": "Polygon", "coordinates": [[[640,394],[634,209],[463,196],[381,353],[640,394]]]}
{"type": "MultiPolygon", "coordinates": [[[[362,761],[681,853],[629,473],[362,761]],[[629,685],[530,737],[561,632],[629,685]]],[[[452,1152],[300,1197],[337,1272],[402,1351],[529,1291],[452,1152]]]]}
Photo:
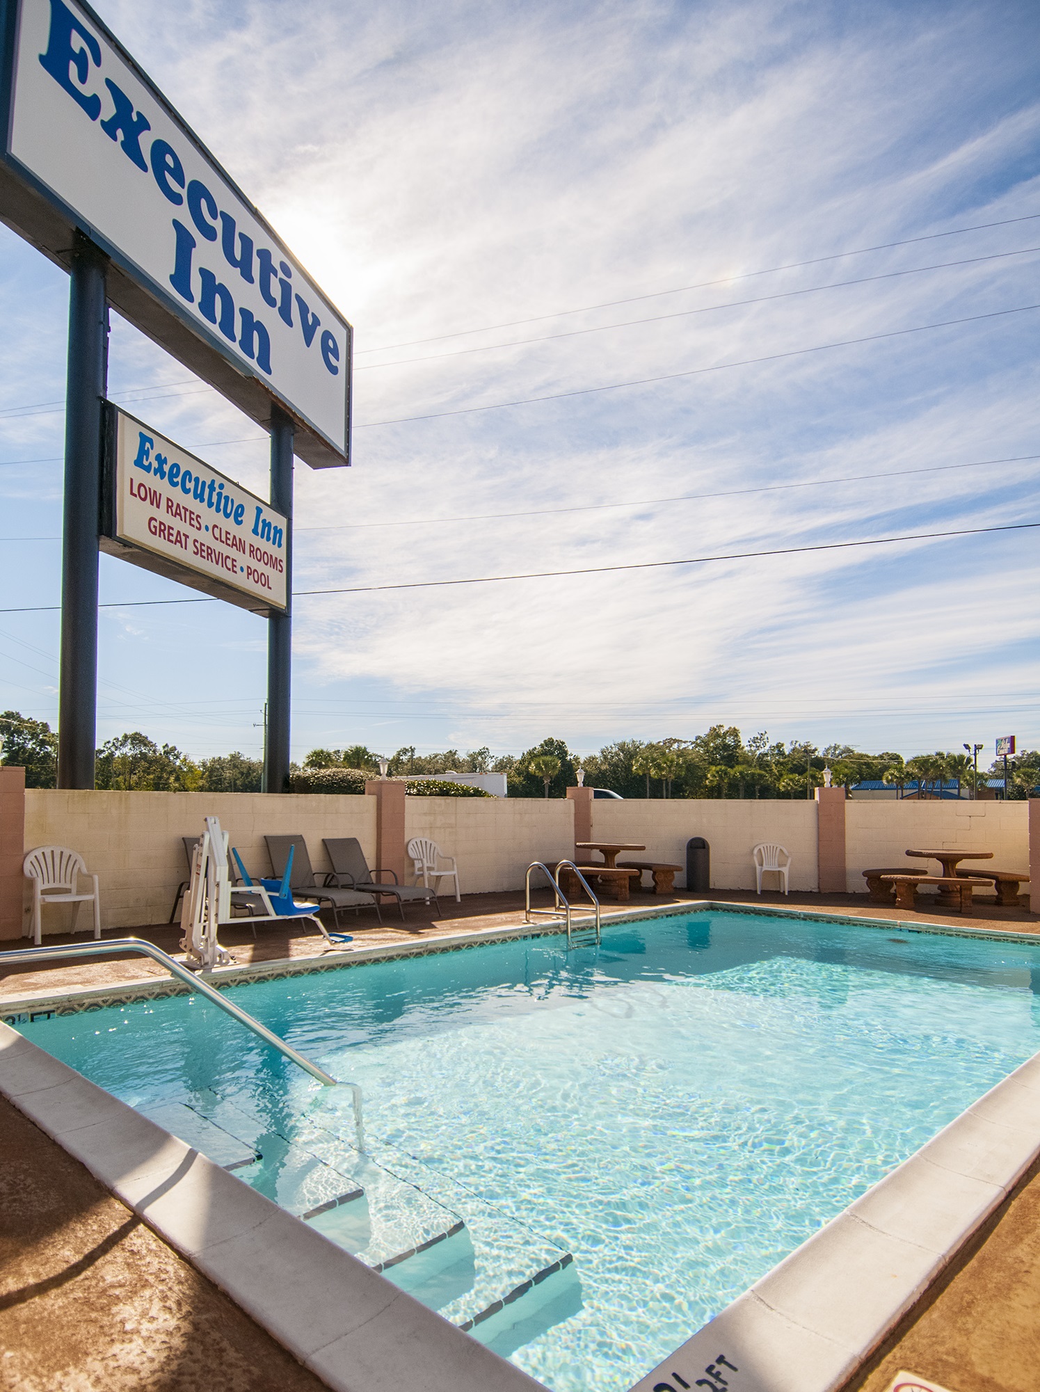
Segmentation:
{"type": "Polygon", "coordinates": [[[0,0],[0,219],[315,468],[349,464],[354,331],[84,0],[0,0]]]}

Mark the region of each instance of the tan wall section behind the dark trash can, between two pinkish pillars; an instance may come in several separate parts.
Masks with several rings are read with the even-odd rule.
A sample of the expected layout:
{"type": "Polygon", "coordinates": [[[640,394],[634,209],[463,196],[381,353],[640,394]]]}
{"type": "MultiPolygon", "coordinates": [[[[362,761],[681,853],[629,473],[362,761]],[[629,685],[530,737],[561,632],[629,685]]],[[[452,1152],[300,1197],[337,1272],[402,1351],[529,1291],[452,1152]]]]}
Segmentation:
{"type": "MultiPolygon", "coordinates": [[[[675,884],[686,884],[686,842],[703,837],[711,848],[713,889],[753,889],[752,849],[778,841],[791,852],[791,888],[816,889],[816,803],[784,799],[646,799],[592,805],[592,839],[642,841],[646,851],[622,853],[618,860],[667,860],[681,864],[675,884]]],[[[766,888],[778,884],[766,878],[766,888]]]]}

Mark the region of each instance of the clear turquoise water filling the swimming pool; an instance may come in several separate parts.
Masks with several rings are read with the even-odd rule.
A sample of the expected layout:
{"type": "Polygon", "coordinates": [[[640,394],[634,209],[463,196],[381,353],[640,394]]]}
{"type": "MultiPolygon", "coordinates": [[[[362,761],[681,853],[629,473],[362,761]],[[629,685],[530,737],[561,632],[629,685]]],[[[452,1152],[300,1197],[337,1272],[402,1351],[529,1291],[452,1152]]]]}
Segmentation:
{"type": "MultiPolygon", "coordinates": [[[[362,1084],[369,1226],[319,1226],[373,1260],[395,1210],[461,1215],[429,1268],[387,1272],[457,1322],[572,1254],[540,1308],[476,1332],[554,1392],[613,1392],[1040,1050],[1037,991],[1040,947],[693,913],[234,998],[362,1084]]],[[[349,1171],[347,1100],[198,998],[19,1027],[134,1105],[227,1126],[287,1207],[309,1201],[294,1147],[312,1178],[349,1171]]]]}

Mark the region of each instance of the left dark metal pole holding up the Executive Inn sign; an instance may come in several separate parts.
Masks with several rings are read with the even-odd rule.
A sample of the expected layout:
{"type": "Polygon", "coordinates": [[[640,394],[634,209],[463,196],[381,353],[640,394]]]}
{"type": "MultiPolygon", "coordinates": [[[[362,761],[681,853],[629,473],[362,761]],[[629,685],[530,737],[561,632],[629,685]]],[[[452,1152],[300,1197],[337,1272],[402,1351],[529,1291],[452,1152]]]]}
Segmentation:
{"type": "Polygon", "coordinates": [[[106,269],[107,258],[77,234],[68,292],[58,788],[93,788],[102,400],[109,367],[106,269]]]}

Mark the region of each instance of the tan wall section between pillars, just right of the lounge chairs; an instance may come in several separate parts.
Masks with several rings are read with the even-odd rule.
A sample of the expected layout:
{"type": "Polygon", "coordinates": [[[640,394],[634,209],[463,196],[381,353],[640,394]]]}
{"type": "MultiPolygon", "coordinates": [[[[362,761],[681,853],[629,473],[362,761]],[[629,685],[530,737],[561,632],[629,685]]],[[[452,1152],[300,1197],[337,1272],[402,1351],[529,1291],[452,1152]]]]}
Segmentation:
{"type": "Polygon", "coordinates": [[[444,855],[455,856],[462,894],[522,889],[532,860],[551,869],[571,859],[574,803],[564,798],[407,798],[405,838],[412,837],[429,837],[444,855]]]}

